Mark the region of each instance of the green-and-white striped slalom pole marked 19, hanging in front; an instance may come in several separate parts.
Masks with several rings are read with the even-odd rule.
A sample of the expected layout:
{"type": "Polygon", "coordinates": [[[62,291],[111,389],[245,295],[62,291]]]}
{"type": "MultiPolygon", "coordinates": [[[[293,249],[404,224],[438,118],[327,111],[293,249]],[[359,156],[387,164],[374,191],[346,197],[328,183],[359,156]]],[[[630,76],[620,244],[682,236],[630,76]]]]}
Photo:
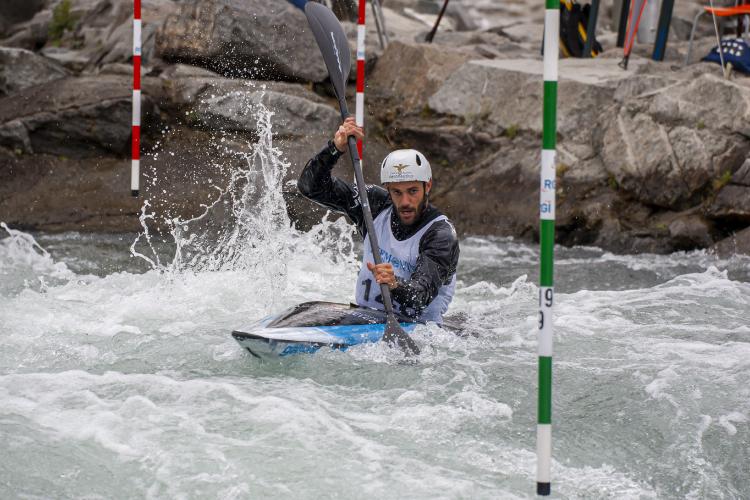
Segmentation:
{"type": "Polygon", "coordinates": [[[539,402],[536,430],[536,493],[550,494],[552,465],[552,285],[555,246],[555,146],[560,0],[546,0],[544,13],[544,111],[539,193],[539,402]]]}

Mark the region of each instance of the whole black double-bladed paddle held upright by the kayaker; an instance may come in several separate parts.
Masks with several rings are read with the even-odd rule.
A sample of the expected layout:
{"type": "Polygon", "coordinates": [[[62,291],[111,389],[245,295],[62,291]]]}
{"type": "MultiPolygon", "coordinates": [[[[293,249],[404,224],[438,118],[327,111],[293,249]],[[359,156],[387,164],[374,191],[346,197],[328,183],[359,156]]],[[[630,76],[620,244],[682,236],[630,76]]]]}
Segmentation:
{"type": "MultiPolygon", "coordinates": [[[[346,40],[344,29],[341,23],[331,10],[319,3],[307,2],[305,5],[305,15],[307,22],[310,24],[315,41],[318,42],[320,52],[323,54],[323,60],[328,68],[328,76],[331,78],[333,90],[339,101],[341,119],[346,119],[349,112],[346,108],[346,79],[349,76],[351,67],[351,54],[349,53],[349,42],[346,40]]],[[[357,152],[357,141],[354,136],[347,139],[349,144],[349,155],[351,156],[352,165],[354,166],[354,175],[357,179],[357,189],[359,190],[359,201],[362,205],[362,212],[365,216],[365,227],[367,236],[370,238],[372,254],[375,258],[375,264],[380,264],[380,246],[378,238],[375,235],[375,228],[372,223],[372,212],[370,211],[370,202],[367,199],[367,186],[365,178],[362,175],[362,166],[357,152]]],[[[414,340],[409,337],[393,314],[393,303],[391,302],[391,290],[385,283],[380,284],[380,293],[383,296],[383,305],[387,315],[385,332],[383,340],[390,345],[398,345],[407,355],[419,354],[419,348],[414,340]]]]}

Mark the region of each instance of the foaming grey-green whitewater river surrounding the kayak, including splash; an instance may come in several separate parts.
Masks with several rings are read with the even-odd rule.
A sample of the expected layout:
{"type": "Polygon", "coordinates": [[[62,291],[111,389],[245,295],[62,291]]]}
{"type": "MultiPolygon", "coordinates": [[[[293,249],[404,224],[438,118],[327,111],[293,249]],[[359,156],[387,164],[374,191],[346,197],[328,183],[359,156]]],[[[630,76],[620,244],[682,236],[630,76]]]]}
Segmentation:
{"type": "MultiPolygon", "coordinates": [[[[259,148],[177,244],[0,230],[0,498],[533,497],[536,247],[464,238],[476,336],[420,327],[416,363],[260,363],[231,330],[348,302],[357,245],[289,228],[259,148]]],[[[750,258],[556,257],[554,497],[750,498],[750,258]]]]}

